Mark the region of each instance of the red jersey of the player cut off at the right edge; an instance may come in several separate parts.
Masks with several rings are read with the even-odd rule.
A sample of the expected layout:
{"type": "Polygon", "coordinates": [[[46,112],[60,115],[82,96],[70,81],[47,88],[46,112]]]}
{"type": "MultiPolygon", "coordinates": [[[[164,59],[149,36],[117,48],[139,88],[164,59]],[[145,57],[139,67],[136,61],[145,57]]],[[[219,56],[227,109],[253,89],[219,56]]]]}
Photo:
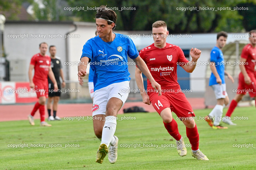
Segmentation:
{"type": "Polygon", "coordinates": [[[244,46],[241,57],[246,59],[246,64],[244,64],[246,72],[254,73],[254,66],[256,64],[256,47],[252,47],[251,44],[244,46]]]}

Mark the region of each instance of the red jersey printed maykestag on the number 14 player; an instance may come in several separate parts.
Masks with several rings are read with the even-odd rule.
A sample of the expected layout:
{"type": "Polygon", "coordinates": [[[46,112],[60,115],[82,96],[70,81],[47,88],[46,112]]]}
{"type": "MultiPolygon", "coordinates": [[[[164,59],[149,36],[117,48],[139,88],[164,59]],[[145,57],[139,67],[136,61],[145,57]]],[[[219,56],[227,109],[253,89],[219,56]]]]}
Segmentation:
{"type": "MultiPolygon", "coordinates": [[[[188,63],[180,47],[166,43],[164,48],[159,49],[153,43],[140,51],[140,57],[145,61],[150,73],[161,85],[162,90],[168,90],[168,92],[180,90],[180,85],[177,82],[177,64],[182,66],[188,63]]],[[[150,89],[153,88],[148,80],[147,90],[150,91],[150,89]]]]}

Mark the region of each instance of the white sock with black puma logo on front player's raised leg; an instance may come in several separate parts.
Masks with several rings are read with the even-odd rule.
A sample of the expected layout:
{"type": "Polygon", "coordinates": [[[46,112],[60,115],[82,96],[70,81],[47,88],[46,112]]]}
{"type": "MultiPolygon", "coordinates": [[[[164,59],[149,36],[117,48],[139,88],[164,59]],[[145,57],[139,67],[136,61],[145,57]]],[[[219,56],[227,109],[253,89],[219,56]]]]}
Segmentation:
{"type": "Polygon", "coordinates": [[[116,131],[116,117],[115,116],[106,116],[105,117],[105,124],[102,129],[102,138],[101,143],[106,144],[109,146],[110,141],[112,140],[116,131]]]}

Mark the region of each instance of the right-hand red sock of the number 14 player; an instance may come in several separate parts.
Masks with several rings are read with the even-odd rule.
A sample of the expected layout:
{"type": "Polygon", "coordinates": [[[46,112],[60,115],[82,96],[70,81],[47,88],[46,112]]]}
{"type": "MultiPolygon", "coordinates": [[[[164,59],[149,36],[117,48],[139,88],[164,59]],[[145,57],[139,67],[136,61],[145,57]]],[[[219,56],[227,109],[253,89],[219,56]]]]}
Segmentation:
{"type": "Polygon", "coordinates": [[[198,134],[196,125],[194,128],[186,127],[186,133],[187,133],[189,142],[192,145],[191,149],[198,150],[199,149],[199,134],[198,134]]]}

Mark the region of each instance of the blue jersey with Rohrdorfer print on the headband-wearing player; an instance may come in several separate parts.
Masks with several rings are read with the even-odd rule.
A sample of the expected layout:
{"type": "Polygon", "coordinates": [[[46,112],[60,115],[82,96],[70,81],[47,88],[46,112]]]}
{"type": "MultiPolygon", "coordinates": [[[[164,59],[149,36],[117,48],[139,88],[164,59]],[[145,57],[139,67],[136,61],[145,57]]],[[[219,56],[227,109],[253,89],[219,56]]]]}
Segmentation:
{"type": "Polygon", "coordinates": [[[115,34],[112,42],[105,42],[97,36],[84,44],[81,58],[90,59],[89,64],[94,72],[94,91],[113,83],[130,81],[127,56],[136,59],[139,53],[129,37],[115,34]]]}

